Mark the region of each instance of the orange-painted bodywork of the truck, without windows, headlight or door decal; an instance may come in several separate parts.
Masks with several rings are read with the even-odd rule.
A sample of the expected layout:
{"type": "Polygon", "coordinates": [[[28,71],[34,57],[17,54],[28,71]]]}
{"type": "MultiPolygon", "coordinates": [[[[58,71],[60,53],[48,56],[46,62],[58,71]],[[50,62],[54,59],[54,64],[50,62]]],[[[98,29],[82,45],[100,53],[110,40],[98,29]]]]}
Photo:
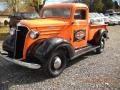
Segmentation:
{"type": "MultiPolygon", "coordinates": [[[[92,26],[88,23],[89,9],[84,4],[66,3],[66,4],[54,4],[46,5],[46,8],[70,8],[69,18],[46,18],[46,19],[36,19],[36,20],[22,20],[20,23],[28,27],[29,32],[31,30],[39,31],[40,36],[37,39],[31,39],[29,32],[25,39],[23,59],[26,59],[26,54],[29,47],[37,40],[43,40],[50,37],[61,37],[68,40],[74,49],[81,48],[87,45],[89,40],[93,39],[94,34],[101,28],[106,28],[105,25],[92,26]],[[85,10],[86,19],[85,20],[75,20],[74,14],[76,10],[85,10]],[[78,30],[85,32],[84,40],[74,41],[74,33],[78,30]]],[[[41,14],[42,15],[42,14],[41,14]]]]}

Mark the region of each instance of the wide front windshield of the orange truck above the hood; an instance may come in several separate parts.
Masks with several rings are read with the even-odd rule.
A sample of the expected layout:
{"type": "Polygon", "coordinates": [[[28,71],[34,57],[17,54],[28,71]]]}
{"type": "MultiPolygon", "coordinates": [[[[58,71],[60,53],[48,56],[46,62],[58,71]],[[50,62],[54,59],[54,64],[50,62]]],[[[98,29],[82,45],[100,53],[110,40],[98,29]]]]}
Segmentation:
{"type": "Polygon", "coordinates": [[[69,18],[70,17],[70,8],[47,8],[42,12],[42,18],[69,18]]]}

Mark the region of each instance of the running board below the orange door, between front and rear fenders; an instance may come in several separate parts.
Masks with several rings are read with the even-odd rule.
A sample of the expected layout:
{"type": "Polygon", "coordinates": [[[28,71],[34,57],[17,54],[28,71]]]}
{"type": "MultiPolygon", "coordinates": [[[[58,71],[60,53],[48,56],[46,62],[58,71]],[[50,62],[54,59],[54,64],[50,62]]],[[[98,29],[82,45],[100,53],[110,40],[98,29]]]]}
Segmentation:
{"type": "Polygon", "coordinates": [[[90,51],[93,51],[93,50],[95,50],[95,49],[97,49],[97,48],[99,48],[99,47],[100,47],[100,46],[89,45],[89,46],[84,47],[84,48],[82,48],[82,49],[77,49],[77,50],[75,50],[75,55],[71,58],[71,60],[73,60],[73,59],[75,59],[75,58],[77,58],[77,57],[79,57],[79,56],[81,56],[81,55],[83,55],[83,54],[85,54],[85,53],[88,53],[88,52],[90,52],[90,51]]]}

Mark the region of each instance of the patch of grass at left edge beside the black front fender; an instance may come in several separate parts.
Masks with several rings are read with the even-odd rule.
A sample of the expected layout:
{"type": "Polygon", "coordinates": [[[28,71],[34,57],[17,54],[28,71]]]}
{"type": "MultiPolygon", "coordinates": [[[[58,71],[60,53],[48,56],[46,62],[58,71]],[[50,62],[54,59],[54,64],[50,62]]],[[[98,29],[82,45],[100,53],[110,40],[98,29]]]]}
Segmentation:
{"type": "Polygon", "coordinates": [[[9,27],[7,26],[0,27],[0,40],[4,40],[8,34],[9,34],[9,27]]]}

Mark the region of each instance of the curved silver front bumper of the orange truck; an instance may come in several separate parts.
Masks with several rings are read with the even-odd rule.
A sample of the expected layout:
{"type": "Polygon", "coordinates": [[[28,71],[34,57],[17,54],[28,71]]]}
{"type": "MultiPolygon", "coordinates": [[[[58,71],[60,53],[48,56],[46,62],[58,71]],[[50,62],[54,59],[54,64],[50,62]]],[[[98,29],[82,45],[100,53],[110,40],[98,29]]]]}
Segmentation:
{"type": "Polygon", "coordinates": [[[27,67],[27,68],[30,68],[30,69],[41,68],[41,65],[39,65],[39,64],[24,62],[24,61],[22,61],[22,59],[12,59],[12,58],[7,57],[5,54],[3,54],[1,52],[0,52],[0,57],[3,58],[6,61],[12,62],[14,64],[17,64],[17,65],[20,65],[20,66],[23,66],[23,67],[27,67]]]}

